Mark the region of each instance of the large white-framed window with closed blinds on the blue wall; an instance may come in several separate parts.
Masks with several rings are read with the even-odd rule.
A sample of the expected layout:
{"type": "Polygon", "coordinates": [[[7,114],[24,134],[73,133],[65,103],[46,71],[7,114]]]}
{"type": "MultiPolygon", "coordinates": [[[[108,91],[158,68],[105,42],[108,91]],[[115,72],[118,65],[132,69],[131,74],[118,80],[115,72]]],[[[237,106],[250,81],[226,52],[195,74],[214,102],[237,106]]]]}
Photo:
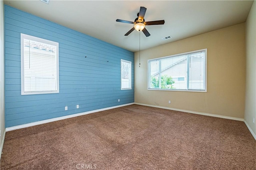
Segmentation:
{"type": "Polygon", "coordinates": [[[59,93],[59,44],[20,34],[21,94],[59,93]]]}

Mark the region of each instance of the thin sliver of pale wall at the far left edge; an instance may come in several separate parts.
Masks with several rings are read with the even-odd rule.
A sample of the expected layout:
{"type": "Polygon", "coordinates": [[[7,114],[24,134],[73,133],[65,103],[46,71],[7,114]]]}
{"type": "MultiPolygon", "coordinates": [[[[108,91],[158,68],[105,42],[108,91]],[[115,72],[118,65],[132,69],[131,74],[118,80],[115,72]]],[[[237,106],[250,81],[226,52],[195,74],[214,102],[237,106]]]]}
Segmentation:
{"type": "MultiPolygon", "coordinates": [[[[0,153],[4,142],[4,2],[0,1],[0,153]]],[[[1,155],[0,155],[1,158],[1,155]]]]}

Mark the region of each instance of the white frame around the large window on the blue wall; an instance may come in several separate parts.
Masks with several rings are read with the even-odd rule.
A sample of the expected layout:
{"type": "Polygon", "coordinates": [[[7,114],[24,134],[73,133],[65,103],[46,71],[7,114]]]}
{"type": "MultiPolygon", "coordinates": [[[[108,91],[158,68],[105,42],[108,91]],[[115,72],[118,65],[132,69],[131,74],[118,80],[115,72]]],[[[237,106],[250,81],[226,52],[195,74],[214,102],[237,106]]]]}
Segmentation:
{"type": "Polygon", "coordinates": [[[46,40],[43,38],[38,38],[35,36],[30,36],[27,34],[20,33],[20,51],[21,51],[21,95],[38,95],[38,94],[51,94],[51,93],[60,93],[60,87],[59,87],[59,43],[53,42],[50,40],[46,40]],[[56,46],[56,81],[57,81],[57,90],[56,91],[26,91],[24,89],[24,39],[33,40],[41,43],[47,43],[49,45],[55,45],[56,46]]]}

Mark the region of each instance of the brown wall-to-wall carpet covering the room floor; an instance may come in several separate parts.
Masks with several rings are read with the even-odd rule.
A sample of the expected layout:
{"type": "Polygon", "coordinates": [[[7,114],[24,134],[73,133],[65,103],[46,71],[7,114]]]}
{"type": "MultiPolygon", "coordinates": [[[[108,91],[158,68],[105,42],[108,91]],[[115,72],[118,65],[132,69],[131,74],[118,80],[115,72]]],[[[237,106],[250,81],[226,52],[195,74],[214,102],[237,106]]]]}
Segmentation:
{"type": "Polygon", "coordinates": [[[255,170],[244,122],[130,105],[6,132],[1,169],[255,170]]]}

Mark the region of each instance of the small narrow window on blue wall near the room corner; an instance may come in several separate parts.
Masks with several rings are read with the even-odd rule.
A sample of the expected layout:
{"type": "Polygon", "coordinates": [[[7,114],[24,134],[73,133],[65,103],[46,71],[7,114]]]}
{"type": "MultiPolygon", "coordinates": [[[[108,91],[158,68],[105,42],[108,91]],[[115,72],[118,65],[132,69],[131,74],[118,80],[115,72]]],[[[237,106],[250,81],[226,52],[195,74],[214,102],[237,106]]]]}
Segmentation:
{"type": "Polygon", "coordinates": [[[132,62],[121,59],[121,90],[132,89],[132,62]]]}

